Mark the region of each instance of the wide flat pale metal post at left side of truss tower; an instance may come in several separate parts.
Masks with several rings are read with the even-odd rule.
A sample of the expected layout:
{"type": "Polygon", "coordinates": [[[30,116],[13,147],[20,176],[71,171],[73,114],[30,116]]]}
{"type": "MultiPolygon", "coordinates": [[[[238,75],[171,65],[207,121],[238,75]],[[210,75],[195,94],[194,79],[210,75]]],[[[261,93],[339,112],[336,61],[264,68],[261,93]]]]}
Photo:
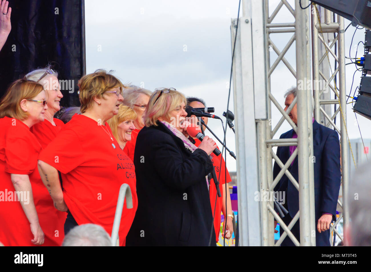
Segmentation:
{"type": "MultiPolygon", "coordinates": [[[[241,246],[262,245],[260,203],[254,200],[259,191],[258,148],[255,123],[255,102],[252,50],[251,2],[243,1],[237,33],[232,21],[232,49],[237,36],[233,62],[233,98],[236,112],[237,190],[239,235],[241,246]],[[247,106],[249,105],[249,106],[247,106]]],[[[264,72],[264,71],[262,71],[264,72]]]]}

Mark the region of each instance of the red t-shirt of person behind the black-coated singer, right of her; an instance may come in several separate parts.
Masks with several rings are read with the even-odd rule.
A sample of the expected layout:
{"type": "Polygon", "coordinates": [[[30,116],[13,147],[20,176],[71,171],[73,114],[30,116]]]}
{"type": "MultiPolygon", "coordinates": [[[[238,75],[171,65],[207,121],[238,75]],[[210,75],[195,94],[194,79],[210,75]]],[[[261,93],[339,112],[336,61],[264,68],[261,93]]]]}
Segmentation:
{"type": "MultiPolygon", "coordinates": [[[[196,141],[195,145],[198,147],[198,145],[201,144],[201,141],[198,140],[197,138],[195,138],[194,140],[196,141]]],[[[220,233],[221,207],[223,207],[223,186],[225,186],[223,184],[226,183],[226,178],[225,178],[226,174],[224,171],[226,163],[224,162],[222,154],[220,154],[219,156],[216,156],[214,153],[211,153],[210,156],[211,156],[211,161],[213,162],[216,177],[219,179],[219,190],[221,193],[221,197],[217,197],[214,180],[211,179],[210,180],[210,204],[211,204],[211,211],[213,213],[213,216],[214,216],[214,207],[215,207],[215,197],[217,197],[216,208],[215,208],[216,214],[214,217],[214,229],[215,229],[216,241],[218,242],[219,233],[220,233]],[[221,158],[221,171],[220,171],[220,158],[221,158]],[[219,178],[219,174],[220,174],[220,178],[219,178]]],[[[226,170],[227,170],[227,183],[229,183],[230,181],[232,181],[232,179],[229,175],[228,169],[226,170]]],[[[228,187],[227,187],[227,190],[229,190],[228,187]]]]}

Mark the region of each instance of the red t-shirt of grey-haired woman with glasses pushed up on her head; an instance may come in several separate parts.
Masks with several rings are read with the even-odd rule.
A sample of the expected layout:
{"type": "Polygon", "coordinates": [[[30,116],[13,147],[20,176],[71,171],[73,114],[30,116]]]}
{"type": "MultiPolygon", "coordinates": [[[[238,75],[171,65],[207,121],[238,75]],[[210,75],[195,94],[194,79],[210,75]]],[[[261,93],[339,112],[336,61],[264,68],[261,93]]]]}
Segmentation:
{"type": "MultiPolygon", "coordinates": [[[[59,119],[53,118],[53,120],[56,126],[45,119],[44,122],[37,123],[30,128],[30,131],[36,136],[43,149],[54,140],[65,125],[59,119]]],[[[67,213],[57,210],[44,185],[42,189],[45,191],[44,198],[35,200],[35,203],[39,203],[38,209],[36,209],[39,215],[40,226],[45,234],[43,245],[61,246],[65,237],[64,225],[67,213]],[[58,235],[56,230],[58,230],[58,235]]]]}

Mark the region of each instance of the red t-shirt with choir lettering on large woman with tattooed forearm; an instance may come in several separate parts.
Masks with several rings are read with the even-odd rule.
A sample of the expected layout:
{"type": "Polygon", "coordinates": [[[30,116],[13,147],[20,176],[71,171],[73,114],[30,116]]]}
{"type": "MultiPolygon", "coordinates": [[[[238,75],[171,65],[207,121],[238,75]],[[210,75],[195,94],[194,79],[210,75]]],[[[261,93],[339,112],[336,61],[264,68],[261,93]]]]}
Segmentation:
{"type": "Polygon", "coordinates": [[[39,160],[62,173],[63,198],[78,225],[93,223],[109,235],[115,217],[119,189],[127,183],[133,208],[126,199],[119,229],[120,245],[125,245],[138,206],[135,169],[112,136],[109,125],[75,114],[58,136],[40,153],[39,160]]]}

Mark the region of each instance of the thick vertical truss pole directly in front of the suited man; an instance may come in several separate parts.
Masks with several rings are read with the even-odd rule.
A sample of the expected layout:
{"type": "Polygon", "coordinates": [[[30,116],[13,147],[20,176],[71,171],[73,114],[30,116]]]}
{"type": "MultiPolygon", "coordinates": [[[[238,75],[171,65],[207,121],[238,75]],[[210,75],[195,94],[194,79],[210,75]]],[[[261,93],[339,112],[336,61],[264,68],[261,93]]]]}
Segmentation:
{"type": "MultiPolygon", "coordinates": [[[[308,43],[309,28],[308,9],[303,10],[299,4],[300,0],[295,0],[295,29],[296,29],[296,84],[298,87],[298,165],[299,165],[299,210],[300,210],[300,244],[302,246],[311,245],[311,205],[310,180],[309,174],[309,148],[313,141],[313,135],[308,131],[312,126],[312,120],[308,119],[308,89],[306,82],[308,78],[308,43]],[[300,81],[305,88],[299,89],[300,81]],[[310,122],[309,122],[310,121],[310,122]]],[[[308,6],[308,0],[301,1],[303,6],[308,6]]],[[[311,104],[309,104],[311,105],[311,104]]]]}

